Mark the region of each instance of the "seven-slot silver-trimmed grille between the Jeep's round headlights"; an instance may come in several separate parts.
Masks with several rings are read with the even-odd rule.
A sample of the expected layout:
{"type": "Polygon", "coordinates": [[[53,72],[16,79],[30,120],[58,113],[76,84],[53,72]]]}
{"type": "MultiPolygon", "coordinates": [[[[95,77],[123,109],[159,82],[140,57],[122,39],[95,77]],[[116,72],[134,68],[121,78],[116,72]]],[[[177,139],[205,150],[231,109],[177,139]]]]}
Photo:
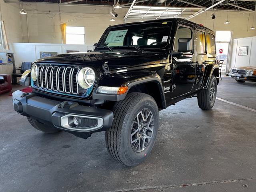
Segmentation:
{"type": "Polygon", "coordinates": [[[80,68],[63,66],[38,66],[38,78],[35,85],[38,88],[63,92],[69,94],[81,94],[85,89],[77,82],[80,68]]]}

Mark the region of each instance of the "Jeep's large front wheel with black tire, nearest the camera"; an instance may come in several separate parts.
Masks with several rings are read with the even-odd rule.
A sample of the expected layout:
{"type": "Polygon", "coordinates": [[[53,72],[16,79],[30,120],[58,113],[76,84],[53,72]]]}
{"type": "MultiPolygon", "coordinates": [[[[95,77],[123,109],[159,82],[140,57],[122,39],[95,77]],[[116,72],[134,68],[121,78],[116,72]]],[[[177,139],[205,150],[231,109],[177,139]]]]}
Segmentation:
{"type": "Polygon", "coordinates": [[[136,166],[150,154],[159,124],[158,106],[148,94],[130,93],[114,105],[112,127],[106,131],[110,155],[126,166],[136,166]]]}

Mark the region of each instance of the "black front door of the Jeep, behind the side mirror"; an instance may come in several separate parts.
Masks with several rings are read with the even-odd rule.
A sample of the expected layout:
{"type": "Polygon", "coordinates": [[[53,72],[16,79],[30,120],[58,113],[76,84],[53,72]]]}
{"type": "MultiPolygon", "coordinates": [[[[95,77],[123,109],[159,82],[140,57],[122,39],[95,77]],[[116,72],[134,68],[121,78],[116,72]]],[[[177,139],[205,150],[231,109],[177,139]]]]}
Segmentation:
{"type": "MultiPolygon", "coordinates": [[[[174,40],[174,52],[178,52],[178,39],[180,38],[192,38],[193,40],[192,28],[183,25],[178,26],[174,40]]],[[[172,58],[172,92],[170,93],[172,99],[191,92],[195,72],[196,62],[193,48],[191,52],[184,52],[182,56],[172,58]]]]}

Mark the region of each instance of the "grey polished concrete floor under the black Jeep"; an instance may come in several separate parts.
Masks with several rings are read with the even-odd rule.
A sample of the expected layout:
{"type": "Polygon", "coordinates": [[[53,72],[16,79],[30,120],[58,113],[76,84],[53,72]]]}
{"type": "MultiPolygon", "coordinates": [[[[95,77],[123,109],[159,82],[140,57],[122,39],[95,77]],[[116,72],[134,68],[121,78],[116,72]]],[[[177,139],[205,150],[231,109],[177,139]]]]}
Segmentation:
{"type": "Polygon", "coordinates": [[[0,191],[255,192],[256,83],[225,77],[217,96],[224,101],[210,111],[200,110],[196,98],[162,110],[152,153],[131,168],[111,158],[104,132],[87,140],[44,134],[14,112],[4,94],[0,191]]]}

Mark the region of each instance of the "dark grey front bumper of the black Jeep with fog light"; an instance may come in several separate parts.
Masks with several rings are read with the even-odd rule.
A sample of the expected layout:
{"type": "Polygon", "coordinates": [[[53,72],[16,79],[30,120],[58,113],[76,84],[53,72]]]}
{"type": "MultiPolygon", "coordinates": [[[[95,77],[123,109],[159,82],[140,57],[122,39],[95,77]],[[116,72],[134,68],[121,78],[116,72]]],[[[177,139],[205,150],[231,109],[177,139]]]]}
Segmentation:
{"type": "Polygon", "coordinates": [[[104,131],[112,126],[113,112],[106,109],[79,105],[77,102],[57,101],[42,98],[34,93],[15,91],[12,93],[14,110],[23,116],[30,116],[42,123],[87,138],[92,132],[104,131]],[[73,117],[83,122],[75,125],[73,117]],[[90,121],[93,121],[90,122],[90,121]],[[86,123],[89,123],[87,126],[86,123]]]}

